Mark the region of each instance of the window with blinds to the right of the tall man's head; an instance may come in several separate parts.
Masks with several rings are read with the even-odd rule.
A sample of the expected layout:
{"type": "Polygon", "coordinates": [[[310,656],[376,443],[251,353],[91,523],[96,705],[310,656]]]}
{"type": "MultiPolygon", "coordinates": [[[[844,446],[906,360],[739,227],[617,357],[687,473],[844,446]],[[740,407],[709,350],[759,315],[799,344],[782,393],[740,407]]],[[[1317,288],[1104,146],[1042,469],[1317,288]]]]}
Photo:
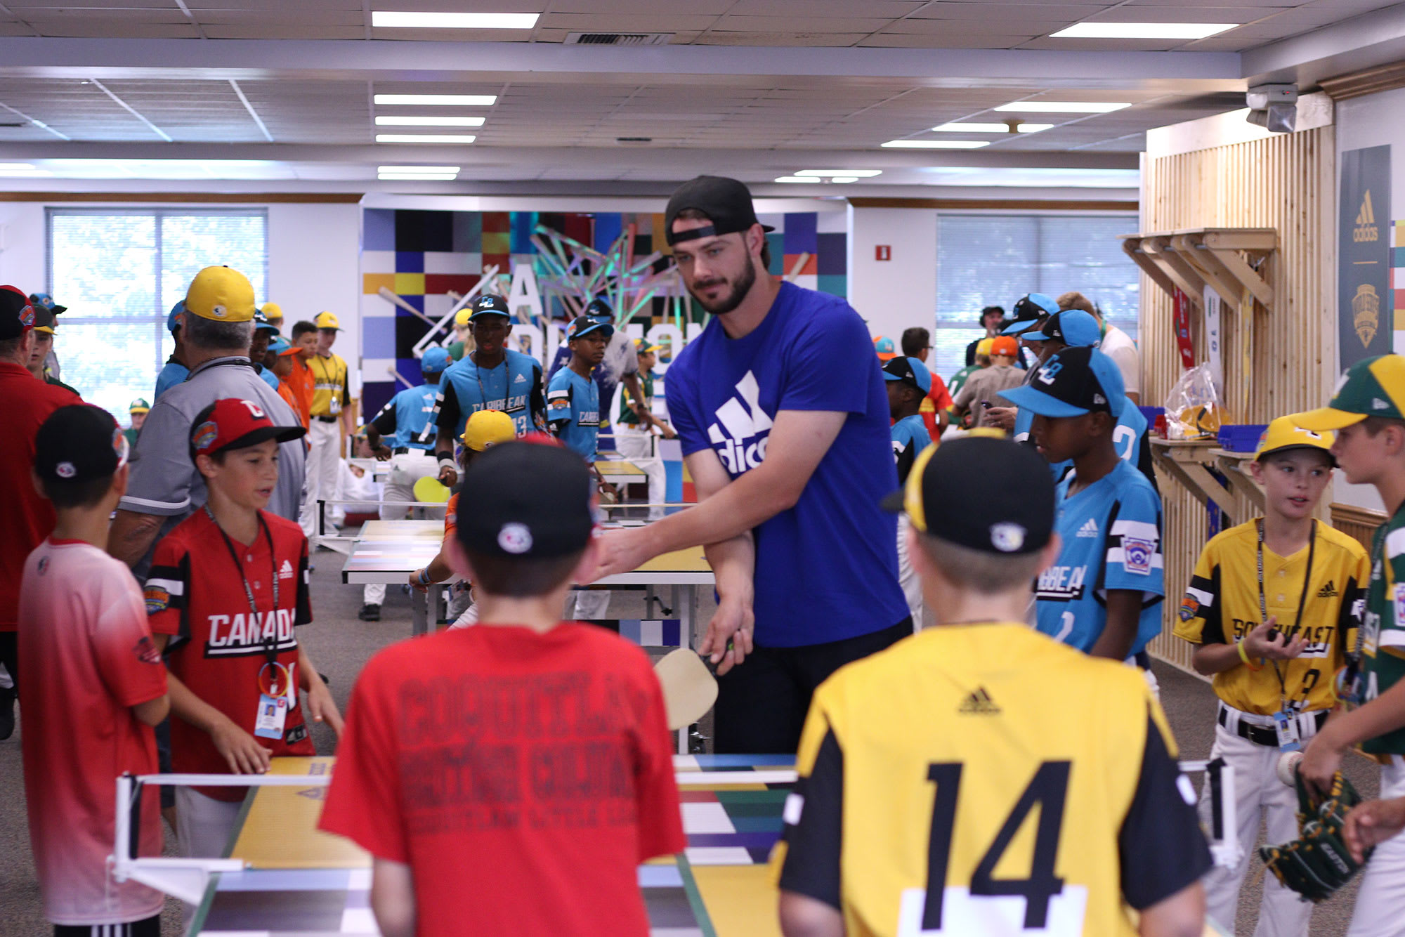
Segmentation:
{"type": "Polygon", "coordinates": [[[1135,228],[1135,218],[1121,215],[939,215],[937,374],[965,367],[967,344],[985,334],[982,308],[1009,315],[1028,292],[1057,298],[1078,289],[1135,340],[1139,275],[1117,237],[1135,228]]]}

